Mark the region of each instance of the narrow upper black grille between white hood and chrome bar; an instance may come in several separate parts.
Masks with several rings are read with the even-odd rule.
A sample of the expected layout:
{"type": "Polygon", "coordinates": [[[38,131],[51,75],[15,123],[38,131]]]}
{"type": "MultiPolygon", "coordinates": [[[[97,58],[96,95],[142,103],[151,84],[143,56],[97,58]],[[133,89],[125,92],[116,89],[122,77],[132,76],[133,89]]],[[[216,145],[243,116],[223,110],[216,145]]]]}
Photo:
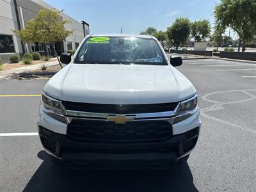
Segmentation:
{"type": "Polygon", "coordinates": [[[85,111],[92,113],[113,113],[113,114],[135,114],[135,113],[157,113],[174,111],[178,102],[161,104],[137,104],[137,105],[116,105],[116,104],[90,104],[83,102],[61,101],[67,110],[85,111]]]}

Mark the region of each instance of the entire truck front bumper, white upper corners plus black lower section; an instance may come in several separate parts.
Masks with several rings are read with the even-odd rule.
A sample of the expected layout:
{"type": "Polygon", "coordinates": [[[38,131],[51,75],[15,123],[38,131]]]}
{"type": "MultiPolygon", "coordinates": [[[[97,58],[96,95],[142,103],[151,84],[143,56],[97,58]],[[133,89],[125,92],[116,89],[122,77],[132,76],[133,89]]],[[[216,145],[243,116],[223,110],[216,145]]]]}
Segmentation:
{"type": "MultiPolygon", "coordinates": [[[[167,121],[168,119],[160,119],[167,121]]],[[[40,106],[38,132],[45,151],[63,163],[90,167],[129,167],[175,164],[195,148],[200,133],[199,109],[192,116],[171,124],[172,136],[145,143],[97,143],[70,137],[68,124],[47,115],[40,106]]]]}

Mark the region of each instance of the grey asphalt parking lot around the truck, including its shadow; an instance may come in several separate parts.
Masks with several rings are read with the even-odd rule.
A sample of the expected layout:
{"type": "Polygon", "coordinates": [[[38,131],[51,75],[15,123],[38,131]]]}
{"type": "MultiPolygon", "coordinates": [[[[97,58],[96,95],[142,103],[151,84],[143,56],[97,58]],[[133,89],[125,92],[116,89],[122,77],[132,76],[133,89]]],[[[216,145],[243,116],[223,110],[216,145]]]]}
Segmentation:
{"type": "Polygon", "coordinates": [[[202,131],[188,164],[165,171],[56,168],[35,134],[48,79],[0,81],[0,191],[256,191],[256,65],[201,59],[177,68],[198,91],[202,131]]]}

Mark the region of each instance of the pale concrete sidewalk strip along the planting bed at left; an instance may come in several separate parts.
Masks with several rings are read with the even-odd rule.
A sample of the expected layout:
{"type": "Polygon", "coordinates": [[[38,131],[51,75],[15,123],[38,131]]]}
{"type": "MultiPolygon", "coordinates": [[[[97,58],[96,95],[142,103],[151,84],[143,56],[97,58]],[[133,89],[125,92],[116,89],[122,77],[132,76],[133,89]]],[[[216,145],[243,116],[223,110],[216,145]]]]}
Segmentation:
{"type": "MultiPolygon", "coordinates": [[[[53,66],[53,65],[59,65],[58,64],[58,60],[57,61],[45,61],[45,64],[49,67],[49,66],[53,66]]],[[[12,65],[12,64],[10,64],[12,65]]],[[[13,76],[13,74],[19,74],[22,72],[28,72],[31,70],[36,70],[41,68],[42,63],[39,64],[34,64],[34,65],[28,65],[26,67],[19,67],[19,68],[12,68],[10,70],[4,70],[2,72],[0,72],[0,79],[5,79],[6,77],[9,76],[13,76]]]]}

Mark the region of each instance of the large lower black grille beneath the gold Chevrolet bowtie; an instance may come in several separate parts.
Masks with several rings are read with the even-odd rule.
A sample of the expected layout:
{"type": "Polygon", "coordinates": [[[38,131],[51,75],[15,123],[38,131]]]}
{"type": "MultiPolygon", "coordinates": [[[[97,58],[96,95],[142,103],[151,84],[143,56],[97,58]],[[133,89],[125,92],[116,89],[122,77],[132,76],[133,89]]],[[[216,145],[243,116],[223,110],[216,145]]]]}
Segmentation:
{"type": "Polygon", "coordinates": [[[172,125],[166,121],[115,122],[72,120],[67,136],[75,140],[107,143],[140,143],[160,141],[172,136],[172,125]]]}

